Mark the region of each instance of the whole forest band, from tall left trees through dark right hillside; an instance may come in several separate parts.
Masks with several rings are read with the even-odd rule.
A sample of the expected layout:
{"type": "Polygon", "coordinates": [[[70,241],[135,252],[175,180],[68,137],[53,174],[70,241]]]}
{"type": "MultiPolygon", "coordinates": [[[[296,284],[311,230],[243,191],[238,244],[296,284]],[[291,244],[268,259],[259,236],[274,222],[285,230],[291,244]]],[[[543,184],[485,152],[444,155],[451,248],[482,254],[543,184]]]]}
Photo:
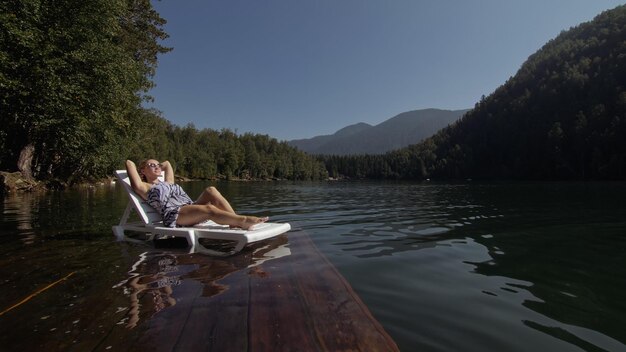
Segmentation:
{"type": "Polygon", "coordinates": [[[172,48],[150,0],[0,2],[0,170],[73,184],[130,158],[189,178],[626,179],[626,5],[563,31],[458,122],[383,155],[308,155],[146,109],[172,48]]]}

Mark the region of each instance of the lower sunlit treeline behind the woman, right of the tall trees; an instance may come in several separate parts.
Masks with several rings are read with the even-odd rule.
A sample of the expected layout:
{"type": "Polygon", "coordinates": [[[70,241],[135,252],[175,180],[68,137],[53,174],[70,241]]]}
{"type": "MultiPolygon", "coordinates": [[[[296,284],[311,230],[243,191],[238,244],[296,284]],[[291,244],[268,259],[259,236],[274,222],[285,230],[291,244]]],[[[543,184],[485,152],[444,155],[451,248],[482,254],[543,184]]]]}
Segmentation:
{"type": "Polygon", "coordinates": [[[144,116],[146,128],[126,158],[169,160],[176,174],[196,179],[288,179],[327,178],[326,169],[313,157],[266,135],[242,136],[224,129],[198,130],[193,125],[172,125],[155,111],[144,116]]]}

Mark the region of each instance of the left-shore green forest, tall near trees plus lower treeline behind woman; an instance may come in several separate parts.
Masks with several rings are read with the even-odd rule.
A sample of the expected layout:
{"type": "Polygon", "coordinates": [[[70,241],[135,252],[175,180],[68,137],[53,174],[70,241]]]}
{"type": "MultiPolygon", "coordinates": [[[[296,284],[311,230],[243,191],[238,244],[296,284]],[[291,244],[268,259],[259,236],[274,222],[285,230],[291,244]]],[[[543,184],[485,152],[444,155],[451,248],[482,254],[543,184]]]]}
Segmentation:
{"type": "Polygon", "coordinates": [[[71,185],[157,158],[189,178],[326,177],[268,136],[178,127],[144,108],[171,50],[165,23],[150,0],[0,2],[0,170],[71,185]]]}

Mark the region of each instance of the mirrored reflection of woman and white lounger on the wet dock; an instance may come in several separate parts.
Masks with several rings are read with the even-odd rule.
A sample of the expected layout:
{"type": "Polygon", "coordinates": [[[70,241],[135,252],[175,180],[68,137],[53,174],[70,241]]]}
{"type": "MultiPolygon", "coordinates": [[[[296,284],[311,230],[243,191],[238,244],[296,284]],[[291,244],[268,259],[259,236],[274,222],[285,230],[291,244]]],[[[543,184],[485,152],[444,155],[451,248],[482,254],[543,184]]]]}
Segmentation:
{"type": "Polygon", "coordinates": [[[215,258],[202,254],[149,251],[139,255],[124,279],[114,289],[122,289],[129,306],[120,308],[118,322],[135,328],[159,312],[174,307],[177,299],[211,298],[228,290],[223,280],[247,270],[247,275],[263,277],[259,265],[291,254],[286,235],[249,246],[242,253],[215,258]],[[201,291],[194,290],[200,284],[201,291]]]}

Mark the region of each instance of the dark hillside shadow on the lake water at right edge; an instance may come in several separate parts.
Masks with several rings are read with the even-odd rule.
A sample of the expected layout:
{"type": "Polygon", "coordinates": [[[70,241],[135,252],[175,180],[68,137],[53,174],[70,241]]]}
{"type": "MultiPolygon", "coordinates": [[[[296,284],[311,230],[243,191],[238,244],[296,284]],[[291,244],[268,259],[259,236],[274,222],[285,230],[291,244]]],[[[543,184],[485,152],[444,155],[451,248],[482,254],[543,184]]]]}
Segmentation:
{"type": "Polygon", "coordinates": [[[500,187],[500,197],[477,195],[502,212],[500,224],[478,222],[472,238],[489,259],[474,272],[528,284],[484,293],[525,290],[520,304],[539,313],[524,325],[584,350],[619,351],[626,304],[626,195],[623,184],[522,184],[500,187]],[[622,198],[623,199],[623,198],[622,198]]]}

